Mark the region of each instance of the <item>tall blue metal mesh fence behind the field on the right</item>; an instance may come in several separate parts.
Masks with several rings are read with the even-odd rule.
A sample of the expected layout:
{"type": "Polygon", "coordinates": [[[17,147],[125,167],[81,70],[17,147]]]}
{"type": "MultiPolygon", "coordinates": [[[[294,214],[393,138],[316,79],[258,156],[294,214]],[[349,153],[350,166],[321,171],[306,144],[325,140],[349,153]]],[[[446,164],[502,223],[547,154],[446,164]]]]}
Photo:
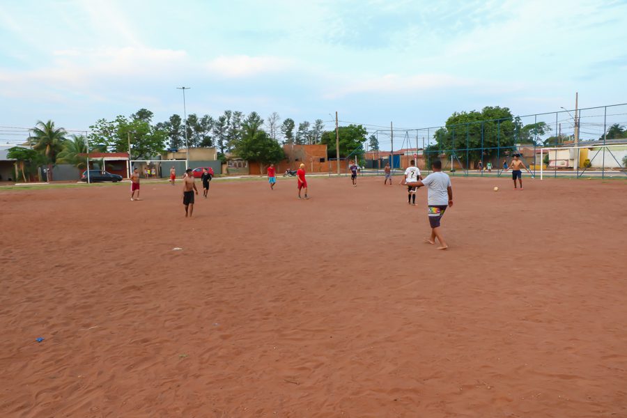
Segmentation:
{"type": "Polygon", "coordinates": [[[454,176],[500,176],[518,154],[534,175],[627,178],[627,104],[419,129],[379,128],[371,134],[379,151],[366,150],[366,155],[376,173],[381,173],[378,161],[402,169],[402,162],[415,159],[428,171],[439,159],[454,176]]]}

